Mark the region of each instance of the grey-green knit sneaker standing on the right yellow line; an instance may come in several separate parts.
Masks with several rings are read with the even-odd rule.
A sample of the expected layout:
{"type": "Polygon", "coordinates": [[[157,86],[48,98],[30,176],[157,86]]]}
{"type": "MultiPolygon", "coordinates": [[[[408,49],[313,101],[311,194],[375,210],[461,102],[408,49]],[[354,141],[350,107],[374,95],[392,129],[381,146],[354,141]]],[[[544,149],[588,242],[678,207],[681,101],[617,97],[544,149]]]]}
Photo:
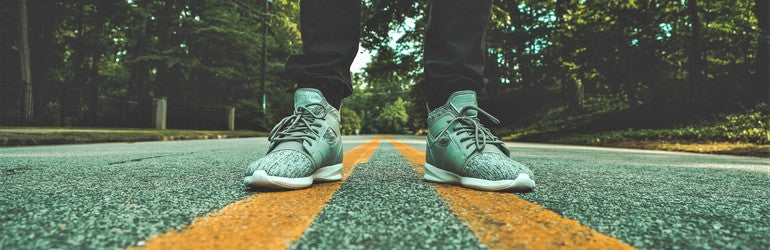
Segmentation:
{"type": "Polygon", "coordinates": [[[505,144],[484,127],[476,92],[458,91],[444,106],[428,113],[425,180],[460,184],[485,191],[530,191],[532,171],[510,158],[505,144]]]}

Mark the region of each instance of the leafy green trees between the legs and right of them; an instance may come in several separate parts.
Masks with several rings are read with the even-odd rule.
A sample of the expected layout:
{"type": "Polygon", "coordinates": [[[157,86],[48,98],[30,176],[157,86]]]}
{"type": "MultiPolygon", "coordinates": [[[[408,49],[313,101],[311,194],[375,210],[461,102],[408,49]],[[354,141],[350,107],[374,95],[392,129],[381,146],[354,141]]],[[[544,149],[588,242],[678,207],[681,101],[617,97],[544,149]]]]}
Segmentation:
{"type": "MultiPolygon", "coordinates": [[[[560,107],[566,107],[570,121],[585,122],[603,112],[644,106],[699,106],[693,111],[714,113],[712,107],[735,111],[754,105],[766,99],[767,88],[763,2],[493,1],[486,37],[488,82],[480,103],[503,125],[517,127],[539,122],[543,114],[533,110],[560,107]],[[688,9],[690,2],[694,9],[688,9]],[[692,27],[696,19],[698,33],[692,27]],[[596,101],[589,99],[604,106],[590,107],[596,101]]],[[[392,60],[374,60],[370,67],[396,61],[408,67],[389,69],[419,76],[421,66],[413,63],[422,59],[428,4],[375,0],[367,5],[363,19],[370,32],[364,34],[364,47],[398,51],[392,60]]],[[[374,85],[377,78],[367,74],[363,80],[374,85]]],[[[418,100],[427,93],[417,87],[419,77],[398,80],[415,84],[408,88],[415,104],[410,113],[424,110],[418,100]]],[[[413,130],[425,126],[416,119],[410,124],[413,130]]]]}

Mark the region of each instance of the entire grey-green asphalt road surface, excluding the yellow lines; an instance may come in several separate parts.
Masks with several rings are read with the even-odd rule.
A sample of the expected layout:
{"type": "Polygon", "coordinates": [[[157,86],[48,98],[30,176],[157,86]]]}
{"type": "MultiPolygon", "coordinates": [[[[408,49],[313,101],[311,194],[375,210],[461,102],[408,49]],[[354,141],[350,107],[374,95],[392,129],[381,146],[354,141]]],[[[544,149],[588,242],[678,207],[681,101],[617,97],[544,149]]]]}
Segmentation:
{"type": "MultiPolygon", "coordinates": [[[[372,136],[345,137],[346,150],[372,136]]],[[[394,136],[417,149],[424,138],[394,136]]],[[[0,148],[0,249],[124,248],[254,195],[264,138],[0,148]]],[[[770,159],[510,143],[519,196],[639,248],[770,248],[770,159]]],[[[257,195],[258,192],[257,191],[257,195]]],[[[295,248],[483,248],[383,140],[295,248]]]]}

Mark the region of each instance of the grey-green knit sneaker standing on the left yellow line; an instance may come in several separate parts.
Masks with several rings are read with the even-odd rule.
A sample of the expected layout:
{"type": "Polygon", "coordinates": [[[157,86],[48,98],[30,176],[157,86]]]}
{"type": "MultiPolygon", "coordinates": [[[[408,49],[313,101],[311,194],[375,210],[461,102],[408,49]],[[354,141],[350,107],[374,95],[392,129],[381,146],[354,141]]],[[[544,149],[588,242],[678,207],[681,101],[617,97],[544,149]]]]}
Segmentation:
{"type": "Polygon", "coordinates": [[[246,186],[299,189],[342,179],[340,113],[321,91],[294,92],[294,114],[283,118],[268,140],[267,155],[246,168],[246,186]]]}

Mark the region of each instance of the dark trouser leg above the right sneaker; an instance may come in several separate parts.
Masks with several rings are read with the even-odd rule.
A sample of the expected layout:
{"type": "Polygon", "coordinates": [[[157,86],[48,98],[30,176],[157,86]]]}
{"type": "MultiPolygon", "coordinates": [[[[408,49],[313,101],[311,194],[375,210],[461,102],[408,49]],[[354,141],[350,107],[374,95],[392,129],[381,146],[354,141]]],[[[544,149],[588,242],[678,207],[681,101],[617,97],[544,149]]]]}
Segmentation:
{"type": "Polygon", "coordinates": [[[425,93],[431,108],[484,84],[484,37],[491,0],[433,0],[425,32],[425,93]]]}

